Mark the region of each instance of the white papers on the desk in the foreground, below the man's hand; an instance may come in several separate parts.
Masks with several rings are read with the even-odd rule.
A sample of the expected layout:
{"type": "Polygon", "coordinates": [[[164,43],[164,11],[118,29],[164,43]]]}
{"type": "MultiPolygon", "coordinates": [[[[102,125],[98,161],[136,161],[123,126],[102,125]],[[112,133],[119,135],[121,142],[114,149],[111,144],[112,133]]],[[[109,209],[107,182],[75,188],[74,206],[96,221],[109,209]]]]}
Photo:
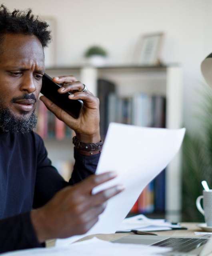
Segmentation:
{"type": "Polygon", "coordinates": [[[169,248],[162,248],[157,246],[146,246],[140,244],[118,244],[100,240],[96,237],[64,246],[60,248],[42,248],[20,250],[2,256],[112,256],[112,255],[145,255],[145,256],[159,256],[164,252],[170,251],[169,248]]]}

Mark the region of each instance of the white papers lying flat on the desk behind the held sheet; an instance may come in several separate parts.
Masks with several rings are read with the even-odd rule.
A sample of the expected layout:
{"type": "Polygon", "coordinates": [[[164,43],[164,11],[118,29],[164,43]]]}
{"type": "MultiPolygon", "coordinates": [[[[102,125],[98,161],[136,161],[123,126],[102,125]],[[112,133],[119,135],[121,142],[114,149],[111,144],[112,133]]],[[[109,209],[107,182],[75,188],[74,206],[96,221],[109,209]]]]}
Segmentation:
{"type": "Polygon", "coordinates": [[[150,219],[143,214],[136,215],[123,220],[117,232],[139,231],[161,231],[171,230],[172,228],[181,228],[179,224],[172,224],[164,219],[150,219]]]}

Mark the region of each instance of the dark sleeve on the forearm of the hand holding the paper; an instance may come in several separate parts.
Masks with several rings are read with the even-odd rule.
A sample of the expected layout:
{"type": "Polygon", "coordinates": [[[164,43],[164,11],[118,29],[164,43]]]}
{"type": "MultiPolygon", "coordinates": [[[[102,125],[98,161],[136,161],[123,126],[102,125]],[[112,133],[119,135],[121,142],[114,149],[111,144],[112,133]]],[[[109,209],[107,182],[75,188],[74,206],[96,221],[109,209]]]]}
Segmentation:
{"type": "Polygon", "coordinates": [[[0,253],[44,247],[36,237],[30,212],[0,220],[0,253]]]}

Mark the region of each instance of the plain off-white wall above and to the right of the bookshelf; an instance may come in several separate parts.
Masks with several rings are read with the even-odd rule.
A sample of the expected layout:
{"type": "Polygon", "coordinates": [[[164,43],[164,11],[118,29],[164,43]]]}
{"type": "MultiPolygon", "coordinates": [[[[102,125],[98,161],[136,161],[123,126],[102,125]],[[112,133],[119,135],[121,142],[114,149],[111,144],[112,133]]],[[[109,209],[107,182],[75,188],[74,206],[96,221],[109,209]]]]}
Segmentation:
{"type": "Polygon", "coordinates": [[[166,32],[162,59],[182,64],[184,123],[191,129],[197,125],[192,113],[202,81],[200,62],[212,52],[211,26],[206,26],[210,0],[7,0],[6,5],[10,10],[30,7],[35,14],[56,18],[60,66],[81,62],[91,44],[104,46],[110,63],[129,63],[142,33],[166,32]]]}

